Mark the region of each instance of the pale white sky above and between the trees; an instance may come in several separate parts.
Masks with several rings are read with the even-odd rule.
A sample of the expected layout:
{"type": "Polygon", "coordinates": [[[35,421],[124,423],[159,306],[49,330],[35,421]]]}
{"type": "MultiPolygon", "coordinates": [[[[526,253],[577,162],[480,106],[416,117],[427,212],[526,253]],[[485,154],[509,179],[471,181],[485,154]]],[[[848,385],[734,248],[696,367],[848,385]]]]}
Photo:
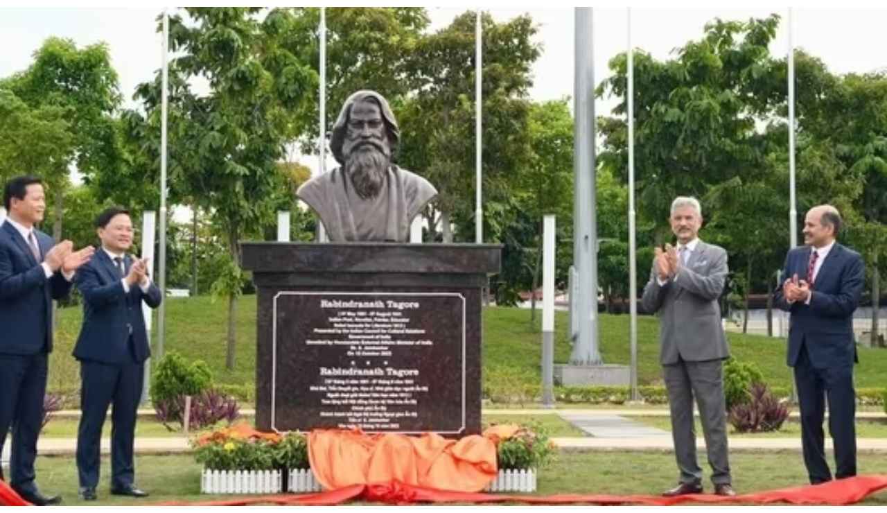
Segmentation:
{"type": "MultiPolygon", "coordinates": [[[[428,7],[431,30],[446,27],[466,8],[428,7]]],[[[530,96],[536,100],[561,99],[573,95],[574,11],[567,7],[550,9],[532,5],[521,8],[491,7],[498,21],[523,12],[538,24],[536,40],[542,55],[533,67],[534,84],[530,96]]],[[[771,51],[788,52],[788,9],[755,6],[749,9],[685,7],[679,9],[632,8],[632,45],[666,59],[671,52],[703,34],[705,23],[715,18],[748,20],[771,12],[782,16],[782,23],[771,51]]],[[[161,35],[156,32],[161,7],[147,8],[12,8],[0,7],[0,77],[25,69],[33,52],[49,36],[69,37],[78,46],[104,41],[118,75],[127,107],[135,107],[132,94],[136,85],[150,80],[161,67],[161,35]]],[[[596,7],[593,10],[593,53],[595,81],[608,75],[608,60],[627,48],[627,10],[596,7]]],[[[792,13],[796,47],[819,56],[836,73],[866,73],[887,69],[887,52],[880,36],[887,10],[795,8],[792,13]]],[[[382,91],[384,93],[384,91],[382,91]]],[[[474,91],[470,91],[472,94],[474,91]]],[[[598,99],[596,114],[607,114],[618,99],[598,99]]],[[[339,106],[327,106],[334,116],[339,106]]],[[[408,136],[408,134],[404,134],[408,136]]],[[[302,162],[317,170],[318,158],[303,156],[302,162]]],[[[332,165],[329,162],[328,165],[332,165]]]]}

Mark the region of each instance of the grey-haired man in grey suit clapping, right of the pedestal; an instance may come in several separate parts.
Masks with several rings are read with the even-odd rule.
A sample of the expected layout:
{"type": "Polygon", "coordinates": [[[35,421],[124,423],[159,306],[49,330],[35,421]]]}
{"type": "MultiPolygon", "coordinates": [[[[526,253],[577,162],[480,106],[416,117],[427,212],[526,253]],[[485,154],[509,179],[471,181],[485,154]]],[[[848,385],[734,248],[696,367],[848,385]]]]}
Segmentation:
{"type": "Polygon", "coordinates": [[[693,398],[702,417],[711,482],[718,495],[735,495],[727,461],[724,369],[729,357],[718,297],[726,279],[726,251],[698,238],[702,208],[692,197],[671,202],[671,231],[678,247],[655,249],[653,271],[641,304],[658,312],[659,359],[671,408],[671,437],[679,483],[665,496],[703,493],[696,462],[693,398]]]}

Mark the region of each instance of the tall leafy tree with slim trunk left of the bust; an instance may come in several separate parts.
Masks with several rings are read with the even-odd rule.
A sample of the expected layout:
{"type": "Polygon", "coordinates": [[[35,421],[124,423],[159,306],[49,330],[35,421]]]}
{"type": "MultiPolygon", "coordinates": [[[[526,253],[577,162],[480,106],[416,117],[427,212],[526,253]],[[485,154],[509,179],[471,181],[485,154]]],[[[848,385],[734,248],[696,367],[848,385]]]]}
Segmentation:
{"type": "MultiPolygon", "coordinates": [[[[301,33],[287,9],[187,8],[169,18],[170,183],[210,212],[229,259],[213,283],[228,299],[227,358],[234,367],[236,298],[244,287],[239,241],[273,216],[278,162],[294,116],[305,109],[317,75],[299,58],[301,33]],[[199,95],[190,82],[208,82],[199,95]]],[[[130,126],[151,131],[159,117],[159,80],[142,84],[145,117],[130,126]]],[[[154,148],[143,147],[142,162],[154,148]]]]}

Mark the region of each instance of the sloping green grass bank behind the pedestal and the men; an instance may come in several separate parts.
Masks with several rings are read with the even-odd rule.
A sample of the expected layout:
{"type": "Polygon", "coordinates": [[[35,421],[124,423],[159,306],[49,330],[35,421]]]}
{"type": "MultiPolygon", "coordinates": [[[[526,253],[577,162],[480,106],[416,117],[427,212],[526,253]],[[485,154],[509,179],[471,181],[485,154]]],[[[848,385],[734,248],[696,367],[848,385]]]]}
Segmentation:
{"type": "MultiPolygon", "coordinates": [[[[203,359],[215,373],[218,383],[244,385],[255,383],[255,296],[240,298],[237,308],[237,355],[233,370],[224,368],[224,301],[208,296],[169,299],[167,303],[166,350],[178,351],[189,359],[203,359]]],[[[59,335],[51,355],[50,390],[75,394],[80,388],[79,366],[71,356],[81,322],[80,308],[59,312],[59,335]]],[[[517,308],[489,307],[483,311],[484,388],[508,386],[509,383],[538,385],[541,315],[530,326],[530,311],[517,308]]],[[[600,352],[607,363],[629,363],[627,315],[600,315],[600,352]]],[[[569,359],[568,315],[557,312],[555,362],[569,359]]],[[[638,320],[638,381],[641,385],[662,384],[659,366],[658,320],[641,316],[638,320]]],[[[785,366],[785,343],[760,335],[728,333],[734,357],[754,361],[772,386],[790,386],[789,368],[785,366]]],[[[883,387],[887,375],[887,351],[860,348],[856,367],[859,388],[883,387]]]]}

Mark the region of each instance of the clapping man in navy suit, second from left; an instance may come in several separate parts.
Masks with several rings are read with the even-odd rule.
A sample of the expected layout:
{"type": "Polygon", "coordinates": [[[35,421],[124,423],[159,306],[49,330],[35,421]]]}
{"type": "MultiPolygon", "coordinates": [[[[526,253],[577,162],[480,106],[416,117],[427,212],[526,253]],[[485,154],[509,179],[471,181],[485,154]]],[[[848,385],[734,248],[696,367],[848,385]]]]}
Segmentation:
{"type": "Polygon", "coordinates": [[[161,304],[144,260],[126,254],[132,246],[127,210],[112,207],[96,218],[102,248],[77,271],[83,296],[83,326],[74,348],[80,360],[81,411],[77,430],[77,473],[83,500],[96,499],[99,443],[108,405],[111,418],[111,493],[146,497],[134,484],[133,443],[145,359],[151,355],[142,302],[161,304]]]}

